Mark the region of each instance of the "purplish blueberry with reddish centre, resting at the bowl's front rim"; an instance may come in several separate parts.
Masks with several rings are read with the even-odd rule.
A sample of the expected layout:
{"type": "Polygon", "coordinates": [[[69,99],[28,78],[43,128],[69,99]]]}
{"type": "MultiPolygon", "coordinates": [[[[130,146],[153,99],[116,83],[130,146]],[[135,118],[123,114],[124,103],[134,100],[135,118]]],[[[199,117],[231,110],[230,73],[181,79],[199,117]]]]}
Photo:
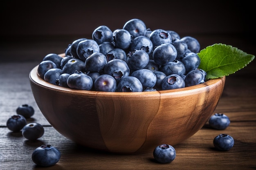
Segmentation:
{"type": "Polygon", "coordinates": [[[117,89],[117,81],[108,74],[102,74],[94,81],[96,91],[115,92],[117,89]]]}

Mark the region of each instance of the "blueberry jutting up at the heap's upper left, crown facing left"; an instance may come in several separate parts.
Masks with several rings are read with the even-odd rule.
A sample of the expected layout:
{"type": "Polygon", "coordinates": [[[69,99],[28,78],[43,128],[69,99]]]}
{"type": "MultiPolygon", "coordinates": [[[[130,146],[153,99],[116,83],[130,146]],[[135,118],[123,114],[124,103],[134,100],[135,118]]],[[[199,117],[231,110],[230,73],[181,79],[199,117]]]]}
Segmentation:
{"type": "Polygon", "coordinates": [[[102,44],[103,42],[112,42],[113,32],[108,26],[101,25],[92,32],[92,40],[96,41],[98,44],[102,44]]]}

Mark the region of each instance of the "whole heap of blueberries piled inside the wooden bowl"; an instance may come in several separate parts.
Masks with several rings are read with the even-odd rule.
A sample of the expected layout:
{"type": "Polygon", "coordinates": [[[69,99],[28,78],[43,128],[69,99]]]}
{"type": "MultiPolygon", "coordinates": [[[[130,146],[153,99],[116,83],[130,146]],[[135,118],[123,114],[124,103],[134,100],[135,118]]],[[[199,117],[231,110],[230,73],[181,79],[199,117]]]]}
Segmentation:
{"type": "Polygon", "coordinates": [[[106,92],[160,91],[206,81],[199,69],[200,43],[175,31],[151,31],[139,19],[112,31],[101,25],[92,39],[68,44],[65,56],[49,53],[38,66],[45,81],[72,89],[106,92]]]}

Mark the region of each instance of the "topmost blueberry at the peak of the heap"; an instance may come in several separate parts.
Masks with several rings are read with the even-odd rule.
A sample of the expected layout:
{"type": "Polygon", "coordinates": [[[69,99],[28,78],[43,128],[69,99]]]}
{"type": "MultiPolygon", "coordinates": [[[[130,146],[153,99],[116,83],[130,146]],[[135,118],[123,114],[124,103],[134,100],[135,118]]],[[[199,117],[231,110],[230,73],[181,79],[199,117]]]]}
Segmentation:
{"type": "Polygon", "coordinates": [[[130,35],[132,35],[133,38],[136,38],[141,35],[144,36],[147,30],[146,24],[142,20],[139,20],[137,18],[128,20],[124,24],[123,29],[129,31],[130,35]]]}

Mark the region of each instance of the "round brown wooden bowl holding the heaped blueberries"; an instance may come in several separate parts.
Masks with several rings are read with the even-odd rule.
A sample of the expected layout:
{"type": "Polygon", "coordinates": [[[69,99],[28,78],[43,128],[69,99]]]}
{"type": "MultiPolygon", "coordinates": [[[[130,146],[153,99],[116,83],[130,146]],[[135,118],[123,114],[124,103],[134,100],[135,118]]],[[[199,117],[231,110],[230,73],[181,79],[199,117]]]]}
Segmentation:
{"type": "Polygon", "coordinates": [[[213,114],[225,77],[154,92],[97,92],[50,84],[30,74],[31,90],[49,123],[72,141],[108,152],[153,152],[195,134],[213,114]]]}

